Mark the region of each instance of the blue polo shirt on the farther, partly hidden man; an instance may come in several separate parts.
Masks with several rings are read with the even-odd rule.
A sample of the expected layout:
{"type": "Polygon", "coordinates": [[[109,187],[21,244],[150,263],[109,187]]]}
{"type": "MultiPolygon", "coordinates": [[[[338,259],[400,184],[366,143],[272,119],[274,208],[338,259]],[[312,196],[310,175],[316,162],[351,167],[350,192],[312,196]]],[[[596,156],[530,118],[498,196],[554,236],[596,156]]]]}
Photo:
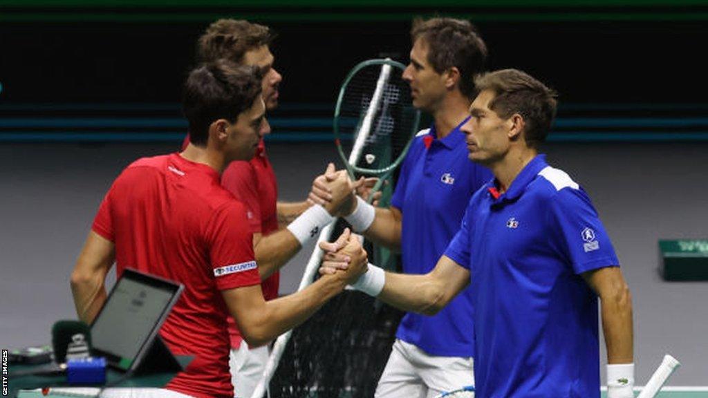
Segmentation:
{"type": "MultiPolygon", "coordinates": [[[[465,120],[464,122],[466,122],[465,120]]],[[[474,191],[491,172],[467,158],[460,123],[437,139],[435,125],[418,133],[401,166],[391,204],[403,213],[401,255],[404,273],[435,268],[464,215],[474,191]]],[[[396,337],[434,356],[474,356],[472,296],[465,290],[438,314],[408,313],[396,337]]]]}

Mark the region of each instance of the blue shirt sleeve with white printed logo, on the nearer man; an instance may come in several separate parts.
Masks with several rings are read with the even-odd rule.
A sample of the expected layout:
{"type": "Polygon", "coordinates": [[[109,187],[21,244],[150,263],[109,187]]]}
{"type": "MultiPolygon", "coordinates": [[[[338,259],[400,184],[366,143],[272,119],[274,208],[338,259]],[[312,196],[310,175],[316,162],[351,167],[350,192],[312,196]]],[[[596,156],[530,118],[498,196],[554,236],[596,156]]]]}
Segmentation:
{"type": "Polygon", "coordinates": [[[582,188],[564,188],[551,198],[551,224],[556,250],[565,256],[575,273],[619,266],[598,212],[582,188]]]}

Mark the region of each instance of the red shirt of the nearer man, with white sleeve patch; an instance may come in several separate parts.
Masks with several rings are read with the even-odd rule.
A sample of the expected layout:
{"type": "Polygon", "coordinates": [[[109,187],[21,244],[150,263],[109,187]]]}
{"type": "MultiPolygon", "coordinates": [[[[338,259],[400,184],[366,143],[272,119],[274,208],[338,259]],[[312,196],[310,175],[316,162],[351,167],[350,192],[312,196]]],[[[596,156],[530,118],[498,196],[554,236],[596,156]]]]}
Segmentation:
{"type": "Polygon", "coordinates": [[[246,210],[217,171],[179,154],[139,159],[105,195],[93,231],[115,244],[119,276],[131,267],[185,285],[160,335],[173,353],[195,358],[167,388],[233,397],[221,290],[261,280],[246,210]]]}

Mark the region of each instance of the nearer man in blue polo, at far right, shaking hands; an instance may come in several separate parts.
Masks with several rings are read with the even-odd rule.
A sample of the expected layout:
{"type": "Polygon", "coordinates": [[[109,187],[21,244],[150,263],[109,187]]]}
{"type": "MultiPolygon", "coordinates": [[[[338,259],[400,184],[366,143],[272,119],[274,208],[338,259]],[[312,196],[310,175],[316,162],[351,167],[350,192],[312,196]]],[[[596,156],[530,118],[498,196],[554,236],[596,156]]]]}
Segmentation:
{"type": "MultiPolygon", "coordinates": [[[[433,271],[370,265],[357,288],[436,314],[471,283],[476,398],[600,397],[599,297],[607,396],[634,397],[632,299],[612,243],[585,191],[537,152],[555,93],[515,69],[484,74],[476,87],[462,131],[469,158],[496,178],[474,194],[433,271]]],[[[327,254],[321,273],[346,266],[343,254],[327,254]]]]}

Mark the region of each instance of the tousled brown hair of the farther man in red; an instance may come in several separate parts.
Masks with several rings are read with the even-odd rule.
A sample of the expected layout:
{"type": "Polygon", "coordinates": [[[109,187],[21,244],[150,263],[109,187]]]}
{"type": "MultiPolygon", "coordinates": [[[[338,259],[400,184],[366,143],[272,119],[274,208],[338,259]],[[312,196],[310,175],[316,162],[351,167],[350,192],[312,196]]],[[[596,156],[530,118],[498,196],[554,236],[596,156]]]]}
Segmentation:
{"type": "Polygon", "coordinates": [[[199,62],[215,62],[225,58],[241,64],[246,52],[269,45],[273,38],[275,35],[268,26],[244,20],[219,19],[209,25],[199,38],[197,58],[199,62]]]}

